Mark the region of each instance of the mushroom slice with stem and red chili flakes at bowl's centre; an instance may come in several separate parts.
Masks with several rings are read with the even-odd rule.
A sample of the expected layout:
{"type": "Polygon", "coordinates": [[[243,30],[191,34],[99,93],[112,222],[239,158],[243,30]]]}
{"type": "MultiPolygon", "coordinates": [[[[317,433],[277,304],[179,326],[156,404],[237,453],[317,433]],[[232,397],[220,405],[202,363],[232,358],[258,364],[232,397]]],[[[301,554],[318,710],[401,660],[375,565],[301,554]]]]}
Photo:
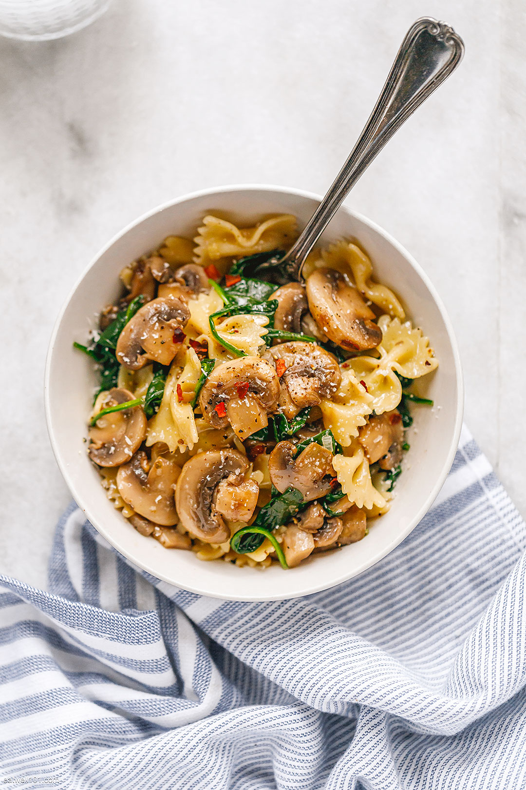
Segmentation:
{"type": "Polygon", "coordinates": [[[267,427],[278,405],[279,379],[259,356],[243,356],[215,367],[200,392],[203,417],[215,428],[228,423],[241,440],[267,427]]]}

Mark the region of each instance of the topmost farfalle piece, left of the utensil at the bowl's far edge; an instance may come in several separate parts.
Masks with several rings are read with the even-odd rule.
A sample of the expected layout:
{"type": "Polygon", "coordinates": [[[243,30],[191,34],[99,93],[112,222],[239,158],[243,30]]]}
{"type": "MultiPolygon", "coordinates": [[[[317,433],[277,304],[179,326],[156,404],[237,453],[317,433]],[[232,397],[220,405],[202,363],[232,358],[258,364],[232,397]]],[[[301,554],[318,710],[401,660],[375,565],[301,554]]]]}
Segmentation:
{"type": "Polygon", "coordinates": [[[293,214],[278,214],[253,228],[237,228],[237,225],[218,216],[205,216],[194,239],[196,249],[194,261],[203,266],[214,263],[222,274],[231,265],[231,258],[253,255],[257,252],[288,247],[296,239],[297,220],[293,214]]]}

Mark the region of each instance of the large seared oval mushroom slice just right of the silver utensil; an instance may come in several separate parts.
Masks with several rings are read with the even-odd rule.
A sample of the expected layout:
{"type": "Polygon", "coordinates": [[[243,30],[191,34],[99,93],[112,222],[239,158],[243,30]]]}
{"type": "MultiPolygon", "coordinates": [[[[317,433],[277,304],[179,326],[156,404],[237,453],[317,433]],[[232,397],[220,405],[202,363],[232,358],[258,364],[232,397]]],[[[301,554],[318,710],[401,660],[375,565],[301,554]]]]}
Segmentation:
{"type": "Polygon", "coordinates": [[[381,342],[375,314],[341,272],[316,269],[307,280],[307,298],[319,327],[341,348],[364,351],[381,342]]]}

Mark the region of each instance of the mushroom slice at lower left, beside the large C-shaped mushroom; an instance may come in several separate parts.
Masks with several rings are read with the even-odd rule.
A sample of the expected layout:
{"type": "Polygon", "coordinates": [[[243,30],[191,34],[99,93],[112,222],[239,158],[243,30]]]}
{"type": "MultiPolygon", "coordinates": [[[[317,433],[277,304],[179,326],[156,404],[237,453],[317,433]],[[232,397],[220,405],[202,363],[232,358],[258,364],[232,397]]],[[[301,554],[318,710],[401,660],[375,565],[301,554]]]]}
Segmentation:
{"type": "Polygon", "coordinates": [[[139,450],[117,472],[119,494],[140,516],[171,527],[177,523],[173,496],[180,472],[170,457],[159,456],[151,463],[144,450],[139,450]]]}

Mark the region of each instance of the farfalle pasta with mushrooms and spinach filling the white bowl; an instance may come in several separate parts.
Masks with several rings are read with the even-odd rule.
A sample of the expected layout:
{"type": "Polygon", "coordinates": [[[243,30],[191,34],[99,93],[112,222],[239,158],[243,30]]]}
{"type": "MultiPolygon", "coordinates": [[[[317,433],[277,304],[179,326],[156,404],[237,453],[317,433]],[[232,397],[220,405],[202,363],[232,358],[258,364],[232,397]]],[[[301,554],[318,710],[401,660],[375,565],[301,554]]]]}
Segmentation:
{"type": "Polygon", "coordinates": [[[209,562],[293,568],[364,539],[393,501],[409,404],[431,403],[408,391],[437,367],[429,340],[353,241],[278,287],[245,258],[289,249],[295,216],[210,214],[196,232],[126,266],[76,344],[100,374],[88,453],[107,497],[144,540],[209,562]]]}

